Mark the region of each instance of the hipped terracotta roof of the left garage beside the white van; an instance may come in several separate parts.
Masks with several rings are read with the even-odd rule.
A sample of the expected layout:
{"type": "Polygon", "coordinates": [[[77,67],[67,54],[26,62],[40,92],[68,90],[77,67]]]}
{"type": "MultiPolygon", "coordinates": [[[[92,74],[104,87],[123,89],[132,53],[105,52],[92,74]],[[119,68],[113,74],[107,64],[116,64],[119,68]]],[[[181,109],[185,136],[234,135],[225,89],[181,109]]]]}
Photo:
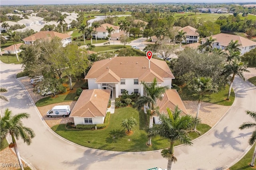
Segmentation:
{"type": "Polygon", "coordinates": [[[110,90],[83,90],[69,117],[105,117],[110,90]]]}

